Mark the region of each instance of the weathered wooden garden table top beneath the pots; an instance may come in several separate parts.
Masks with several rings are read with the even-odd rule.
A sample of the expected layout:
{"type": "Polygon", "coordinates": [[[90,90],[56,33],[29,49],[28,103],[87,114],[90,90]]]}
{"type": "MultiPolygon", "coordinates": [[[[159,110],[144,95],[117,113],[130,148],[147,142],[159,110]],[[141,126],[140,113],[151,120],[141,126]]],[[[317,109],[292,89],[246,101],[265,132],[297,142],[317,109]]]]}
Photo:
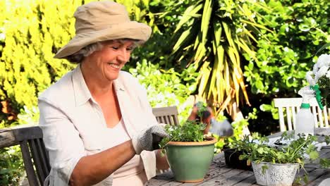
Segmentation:
{"type": "MultiPolygon", "coordinates": [[[[292,131],[289,131],[292,132],[292,131]]],[[[279,137],[282,132],[276,133],[269,137],[279,137]]],[[[324,135],[330,135],[329,128],[317,128],[315,130],[315,135],[319,135],[319,139],[323,140],[324,135]]],[[[321,157],[330,158],[330,147],[323,147],[320,151],[321,157]]],[[[305,184],[301,182],[302,185],[319,185],[322,180],[330,178],[330,169],[319,168],[318,164],[306,164],[306,171],[309,173],[308,178],[310,182],[305,184]]],[[[300,171],[299,175],[303,175],[305,172],[300,171]]],[[[209,167],[209,172],[204,178],[204,181],[197,183],[182,183],[176,182],[173,178],[173,173],[171,171],[157,175],[152,180],[147,182],[148,186],[151,185],[161,185],[161,186],[174,186],[174,185],[257,185],[255,181],[255,175],[253,171],[244,171],[235,168],[227,168],[224,161],[224,154],[220,153],[214,156],[211,166],[209,167]]]]}

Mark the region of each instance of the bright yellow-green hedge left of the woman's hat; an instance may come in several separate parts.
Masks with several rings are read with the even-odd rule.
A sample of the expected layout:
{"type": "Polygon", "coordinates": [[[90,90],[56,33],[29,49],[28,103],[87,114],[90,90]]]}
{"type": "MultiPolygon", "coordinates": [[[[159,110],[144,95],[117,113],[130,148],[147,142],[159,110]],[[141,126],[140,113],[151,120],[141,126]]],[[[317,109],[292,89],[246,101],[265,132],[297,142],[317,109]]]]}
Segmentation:
{"type": "Polygon", "coordinates": [[[73,2],[1,1],[0,98],[8,106],[3,119],[36,106],[38,93],[73,68],[53,58],[74,33],[72,15],[81,1],[73,2]]]}

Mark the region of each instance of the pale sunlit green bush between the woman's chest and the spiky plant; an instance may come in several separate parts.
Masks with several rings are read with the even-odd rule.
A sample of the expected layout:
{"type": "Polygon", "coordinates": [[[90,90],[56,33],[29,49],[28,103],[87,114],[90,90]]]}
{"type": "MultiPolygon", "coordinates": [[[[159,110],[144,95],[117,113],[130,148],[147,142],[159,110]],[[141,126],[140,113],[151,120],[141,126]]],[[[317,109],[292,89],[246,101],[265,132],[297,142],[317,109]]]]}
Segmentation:
{"type": "Polygon", "coordinates": [[[197,76],[192,68],[179,74],[173,68],[161,70],[158,64],[144,60],[129,71],[147,89],[147,97],[152,107],[178,106],[179,120],[188,118],[192,105],[186,101],[190,93],[195,91],[197,76]]]}

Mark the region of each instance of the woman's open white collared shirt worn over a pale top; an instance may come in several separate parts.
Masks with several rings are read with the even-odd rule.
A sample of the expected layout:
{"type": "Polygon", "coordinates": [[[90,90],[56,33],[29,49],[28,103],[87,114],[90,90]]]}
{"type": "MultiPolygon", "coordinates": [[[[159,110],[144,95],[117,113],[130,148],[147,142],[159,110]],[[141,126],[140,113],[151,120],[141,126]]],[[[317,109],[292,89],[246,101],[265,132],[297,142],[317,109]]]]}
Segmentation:
{"type": "MultiPolygon", "coordinates": [[[[145,88],[138,80],[121,71],[114,80],[118,103],[127,135],[157,125],[145,88]]],[[[51,85],[38,98],[39,125],[49,151],[51,173],[49,185],[68,185],[71,173],[82,156],[108,149],[109,135],[102,109],[93,99],[80,70],[80,65],[51,85]]],[[[153,151],[140,154],[147,180],[156,175],[153,151]]],[[[140,162],[140,161],[139,161],[140,162]]],[[[97,185],[111,185],[113,175],[97,185]]]]}

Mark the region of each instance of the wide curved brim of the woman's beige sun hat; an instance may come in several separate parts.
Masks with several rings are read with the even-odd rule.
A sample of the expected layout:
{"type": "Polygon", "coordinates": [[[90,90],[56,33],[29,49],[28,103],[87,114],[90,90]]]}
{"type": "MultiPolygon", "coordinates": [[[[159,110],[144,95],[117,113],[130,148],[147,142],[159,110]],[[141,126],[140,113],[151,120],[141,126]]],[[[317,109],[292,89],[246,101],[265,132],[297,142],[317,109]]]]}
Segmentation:
{"type": "Polygon", "coordinates": [[[79,51],[88,44],[104,42],[113,39],[136,39],[144,43],[149,39],[152,29],[144,23],[130,21],[117,25],[111,25],[104,30],[97,30],[84,34],[78,34],[63,46],[54,58],[65,58],[79,51]]]}

